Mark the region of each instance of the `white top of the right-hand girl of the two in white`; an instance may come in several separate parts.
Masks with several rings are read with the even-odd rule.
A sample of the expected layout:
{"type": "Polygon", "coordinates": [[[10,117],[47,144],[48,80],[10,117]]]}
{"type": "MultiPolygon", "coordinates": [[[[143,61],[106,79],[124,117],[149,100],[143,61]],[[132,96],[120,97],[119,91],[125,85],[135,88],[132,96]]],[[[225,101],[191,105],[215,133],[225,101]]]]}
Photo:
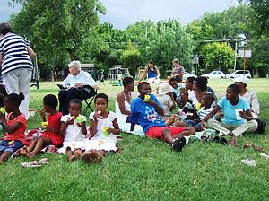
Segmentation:
{"type": "MultiPolygon", "coordinates": [[[[93,120],[93,115],[95,114],[95,112],[91,112],[90,114],[90,119],[93,120]]],[[[94,137],[106,137],[103,134],[103,127],[110,127],[110,128],[115,128],[113,126],[113,121],[115,120],[116,114],[113,111],[109,111],[108,114],[108,118],[98,118],[98,123],[97,123],[97,133],[94,135],[94,137]]],[[[113,135],[113,134],[109,134],[109,135],[113,135]]]]}

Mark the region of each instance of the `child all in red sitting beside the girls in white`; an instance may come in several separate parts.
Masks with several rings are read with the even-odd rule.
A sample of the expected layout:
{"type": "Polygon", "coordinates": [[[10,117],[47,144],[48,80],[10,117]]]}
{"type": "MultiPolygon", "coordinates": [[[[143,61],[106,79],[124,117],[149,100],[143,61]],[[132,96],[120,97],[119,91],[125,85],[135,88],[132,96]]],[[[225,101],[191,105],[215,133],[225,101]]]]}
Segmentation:
{"type": "Polygon", "coordinates": [[[46,112],[48,113],[48,126],[44,126],[44,133],[35,139],[28,148],[21,149],[22,156],[35,157],[40,150],[48,145],[59,147],[63,144],[64,137],[60,133],[60,119],[62,113],[57,111],[58,100],[55,95],[48,94],[43,98],[44,109],[40,110],[43,122],[46,122],[46,112]]]}

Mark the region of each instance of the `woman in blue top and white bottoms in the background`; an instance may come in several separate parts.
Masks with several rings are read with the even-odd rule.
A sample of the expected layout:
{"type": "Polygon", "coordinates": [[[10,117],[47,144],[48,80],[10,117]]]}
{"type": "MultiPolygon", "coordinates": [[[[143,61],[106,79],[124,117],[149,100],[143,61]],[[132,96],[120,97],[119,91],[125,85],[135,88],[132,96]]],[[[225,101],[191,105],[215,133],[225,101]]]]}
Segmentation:
{"type": "Polygon", "coordinates": [[[140,80],[138,81],[138,83],[140,83],[143,78],[146,76],[146,74],[148,75],[148,83],[152,84],[152,83],[156,83],[156,85],[159,85],[160,83],[160,72],[159,69],[153,65],[152,60],[150,60],[147,64],[147,66],[144,69],[143,75],[140,78],[140,80]]]}

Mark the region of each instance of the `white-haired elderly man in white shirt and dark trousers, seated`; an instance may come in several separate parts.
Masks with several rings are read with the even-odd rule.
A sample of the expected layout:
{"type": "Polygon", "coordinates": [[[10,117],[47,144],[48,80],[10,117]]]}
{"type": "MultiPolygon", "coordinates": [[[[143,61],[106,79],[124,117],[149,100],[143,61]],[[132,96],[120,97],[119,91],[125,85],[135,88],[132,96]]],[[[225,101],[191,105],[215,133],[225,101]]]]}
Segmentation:
{"type": "Polygon", "coordinates": [[[59,110],[63,112],[63,115],[68,114],[70,100],[89,99],[91,97],[91,87],[98,89],[98,84],[93,80],[91,74],[81,70],[81,63],[79,61],[71,62],[68,67],[70,74],[68,74],[63,82],[64,89],[61,89],[59,92],[59,110]]]}

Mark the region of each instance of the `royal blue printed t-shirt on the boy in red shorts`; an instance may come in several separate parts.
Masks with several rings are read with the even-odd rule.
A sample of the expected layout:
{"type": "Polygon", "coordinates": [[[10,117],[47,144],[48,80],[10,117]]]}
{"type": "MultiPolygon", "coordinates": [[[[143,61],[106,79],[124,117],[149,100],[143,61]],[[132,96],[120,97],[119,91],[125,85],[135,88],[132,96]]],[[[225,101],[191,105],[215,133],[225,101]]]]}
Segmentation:
{"type": "MultiPolygon", "coordinates": [[[[151,94],[151,100],[157,102],[161,107],[160,102],[151,94]]],[[[162,109],[162,107],[161,107],[162,109]]],[[[156,111],[154,106],[143,99],[137,97],[131,102],[131,122],[139,122],[143,127],[143,132],[146,133],[150,127],[166,127],[166,124],[161,120],[160,114],[156,111]]]]}

